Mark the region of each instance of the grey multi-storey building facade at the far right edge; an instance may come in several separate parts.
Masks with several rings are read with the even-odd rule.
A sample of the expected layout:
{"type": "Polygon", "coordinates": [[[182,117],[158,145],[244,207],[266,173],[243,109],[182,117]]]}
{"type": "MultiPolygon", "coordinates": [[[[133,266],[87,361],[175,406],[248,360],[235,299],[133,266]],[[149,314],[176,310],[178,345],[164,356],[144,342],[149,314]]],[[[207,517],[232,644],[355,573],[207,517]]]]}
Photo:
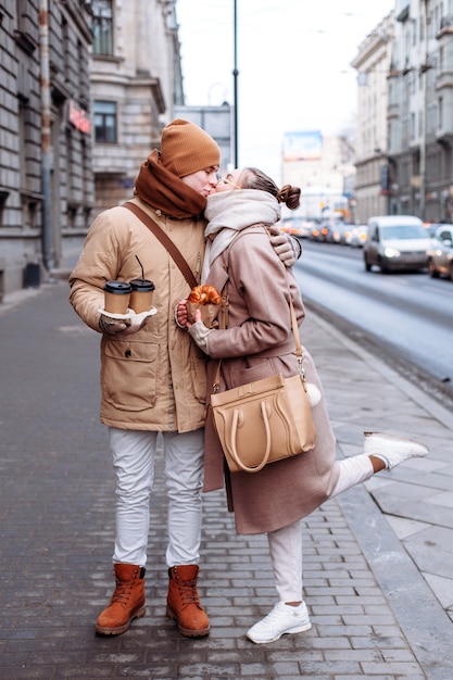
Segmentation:
{"type": "Polygon", "coordinates": [[[389,79],[391,211],[453,216],[453,2],[399,0],[389,79]]]}

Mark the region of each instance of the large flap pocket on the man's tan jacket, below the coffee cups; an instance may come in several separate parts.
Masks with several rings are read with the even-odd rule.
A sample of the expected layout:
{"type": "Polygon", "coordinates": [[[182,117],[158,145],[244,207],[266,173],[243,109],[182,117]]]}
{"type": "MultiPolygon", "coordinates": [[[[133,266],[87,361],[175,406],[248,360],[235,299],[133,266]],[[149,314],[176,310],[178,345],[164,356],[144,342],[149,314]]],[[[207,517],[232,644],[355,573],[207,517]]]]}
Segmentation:
{"type": "Polygon", "coordinates": [[[106,403],[121,411],[144,411],[158,399],[159,344],[105,340],[101,386],[106,403]]]}

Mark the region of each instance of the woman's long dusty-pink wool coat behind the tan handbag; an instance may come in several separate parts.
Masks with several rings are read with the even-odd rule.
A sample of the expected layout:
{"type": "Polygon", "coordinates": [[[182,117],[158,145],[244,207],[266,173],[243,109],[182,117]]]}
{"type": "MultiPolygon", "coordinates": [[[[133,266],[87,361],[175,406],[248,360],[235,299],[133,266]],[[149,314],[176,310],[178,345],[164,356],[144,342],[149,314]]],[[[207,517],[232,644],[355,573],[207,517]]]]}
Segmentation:
{"type": "MultiPolygon", "coordinates": [[[[289,291],[299,324],[304,310],[298,285],[275,255],[262,226],[243,229],[218,256],[206,284],[223,290],[227,282],[227,330],[209,336],[211,386],[222,357],[222,387],[229,389],[275,373],[295,375],[297,360],[289,312],[289,291]]],[[[306,379],[322,389],[311,356],[305,351],[306,379]]],[[[210,413],[210,412],[209,412],[210,413]]],[[[260,473],[226,474],[230,509],[238,533],[263,533],[304,517],[329,498],[339,476],[336,441],[324,398],[313,408],[315,448],[293,458],[272,463],[260,473]]],[[[224,482],[224,456],[212,423],[205,429],[204,490],[224,482]]]]}

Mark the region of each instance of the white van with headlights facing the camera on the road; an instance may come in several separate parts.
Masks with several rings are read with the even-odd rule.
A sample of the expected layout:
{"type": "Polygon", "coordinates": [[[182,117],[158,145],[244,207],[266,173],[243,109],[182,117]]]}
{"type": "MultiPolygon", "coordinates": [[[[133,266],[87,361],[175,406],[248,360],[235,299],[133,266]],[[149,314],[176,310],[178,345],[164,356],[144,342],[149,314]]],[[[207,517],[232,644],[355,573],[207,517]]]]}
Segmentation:
{"type": "Polygon", "coordinates": [[[382,274],[397,269],[424,269],[428,266],[431,238],[421,219],[412,215],[382,215],[368,219],[364,245],[365,269],[373,265],[382,274]]]}

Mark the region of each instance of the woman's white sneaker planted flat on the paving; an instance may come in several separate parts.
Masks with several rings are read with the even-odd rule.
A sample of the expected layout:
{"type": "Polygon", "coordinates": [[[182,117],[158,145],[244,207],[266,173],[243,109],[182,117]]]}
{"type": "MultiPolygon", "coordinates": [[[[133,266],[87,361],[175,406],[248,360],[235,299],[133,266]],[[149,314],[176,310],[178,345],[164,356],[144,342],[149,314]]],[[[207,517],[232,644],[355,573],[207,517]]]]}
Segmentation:
{"type": "Polygon", "coordinates": [[[264,619],[247,631],[247,637],[256,644],[263,644],[275,642],[285,633],[301,633],[310,628],[312,624],[304,602],[298,607],[278,602],[264,619]]]}

